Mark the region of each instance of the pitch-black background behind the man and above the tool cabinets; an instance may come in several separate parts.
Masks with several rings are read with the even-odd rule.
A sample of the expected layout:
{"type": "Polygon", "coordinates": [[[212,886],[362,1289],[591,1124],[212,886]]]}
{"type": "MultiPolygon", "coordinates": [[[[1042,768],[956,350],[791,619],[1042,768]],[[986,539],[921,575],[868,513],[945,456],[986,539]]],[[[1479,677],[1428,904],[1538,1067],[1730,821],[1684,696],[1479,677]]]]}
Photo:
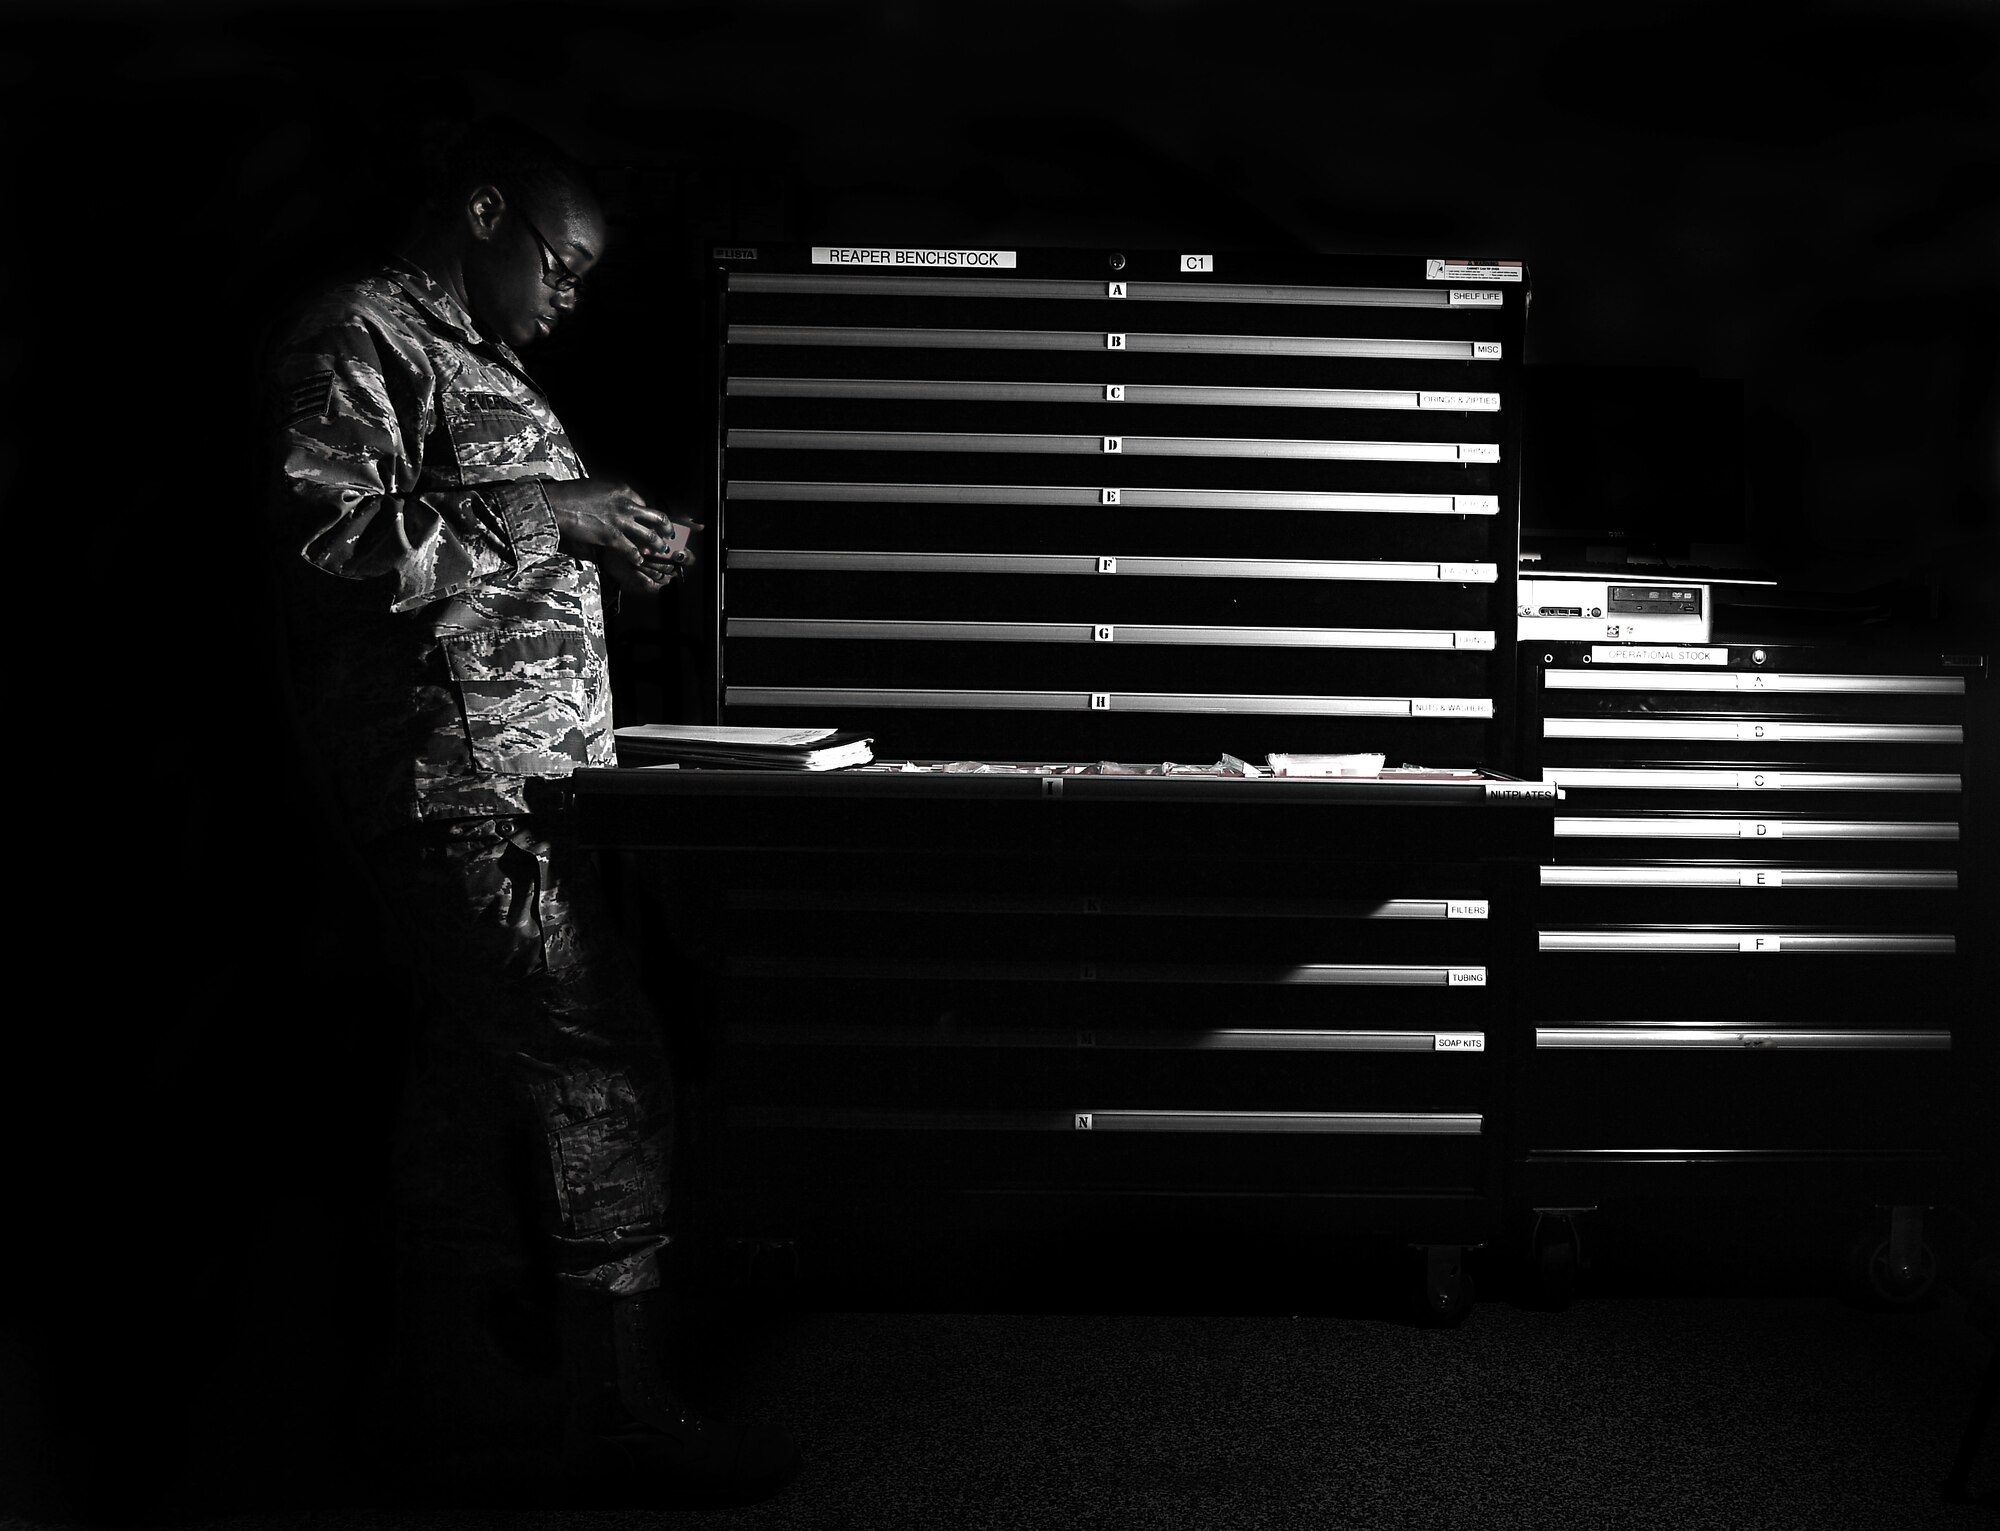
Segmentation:
{"type": "MultiPolygon", "coordinates": [[[[182,1345],[368,1215],[346,1187],[378,1161],[396,973],[276,702],[256,354],[388,248],[428,114],[512,112],[598,166],[612,252],[536,370],[586,462],[662,494],[710,472],[718,242],[1522,258],[1530,362],[1740,386],[1746,538],[1798,598],[1772,622],[1990,648],[2000,6],[4,20],[0,492],[54,598],[22,618],[14,730],[66,803],[28,825],[60,849],[18,939],[38,1025],[76,1043],[30,1091],[22,1217],[36,1267],[182,1345]]],[[[626,720],[694,702],[694,630],[688,598],[628,614],[626,720]]]]}

